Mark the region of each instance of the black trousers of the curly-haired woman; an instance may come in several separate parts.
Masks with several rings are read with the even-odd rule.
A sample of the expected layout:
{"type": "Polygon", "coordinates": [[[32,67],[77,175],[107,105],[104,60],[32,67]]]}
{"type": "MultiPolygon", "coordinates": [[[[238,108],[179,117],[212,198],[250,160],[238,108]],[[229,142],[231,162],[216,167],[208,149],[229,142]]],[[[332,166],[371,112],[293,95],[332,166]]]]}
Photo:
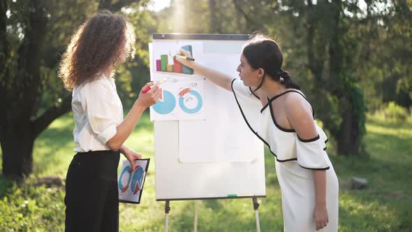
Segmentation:
{"type": "Polygon", "coordinates": [[[66,232],[119,231],[119,152],[75,154],[66,177],[66,232]]]}

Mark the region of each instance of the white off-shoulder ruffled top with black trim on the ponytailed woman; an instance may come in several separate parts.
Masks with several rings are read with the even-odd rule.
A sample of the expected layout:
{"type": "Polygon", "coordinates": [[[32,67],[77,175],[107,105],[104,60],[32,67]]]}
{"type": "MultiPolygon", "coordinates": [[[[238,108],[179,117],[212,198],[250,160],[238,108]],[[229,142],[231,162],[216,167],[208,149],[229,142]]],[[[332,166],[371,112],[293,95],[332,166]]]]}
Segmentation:
{"type": "Polygon", "coordinates": [[[297,136],[295,130],[281,128],[274,119],[273,112],[276,109],[272,109],[272,101],[280,95],[269,99],[262,108],[260,100],[252,94],[249,87],[243,85],[242,80],[233,80],[232,89],[249,128],[269,147],[277,161],[297,161],[300,167],[307,169],[329,169],[325,159],[325,143],[328,138],[316,122],[318,136],[303,140],[297,136]]]}

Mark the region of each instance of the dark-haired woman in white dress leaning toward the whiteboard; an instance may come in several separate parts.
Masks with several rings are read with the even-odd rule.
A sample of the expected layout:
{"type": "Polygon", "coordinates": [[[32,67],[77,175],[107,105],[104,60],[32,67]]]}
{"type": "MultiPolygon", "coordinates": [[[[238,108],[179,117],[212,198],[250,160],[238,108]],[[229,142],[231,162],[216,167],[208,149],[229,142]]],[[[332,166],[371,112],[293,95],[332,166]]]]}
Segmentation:
{"type": "MultiPolygon", "coordinates": [[[[189,52],[180,51],[190,56],[189,52]]],[[[284,231],[337,231],[338,180],[326,154],[328,138],[290,75],[271,38],[256,35],[242,50],[240,79],[177,59],[235,95],[247,125],[274,154],[281,187],[284,231]]]]}

